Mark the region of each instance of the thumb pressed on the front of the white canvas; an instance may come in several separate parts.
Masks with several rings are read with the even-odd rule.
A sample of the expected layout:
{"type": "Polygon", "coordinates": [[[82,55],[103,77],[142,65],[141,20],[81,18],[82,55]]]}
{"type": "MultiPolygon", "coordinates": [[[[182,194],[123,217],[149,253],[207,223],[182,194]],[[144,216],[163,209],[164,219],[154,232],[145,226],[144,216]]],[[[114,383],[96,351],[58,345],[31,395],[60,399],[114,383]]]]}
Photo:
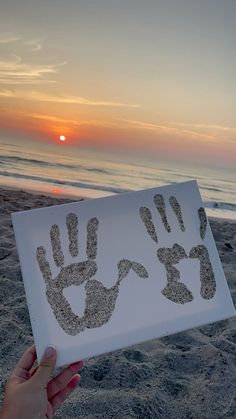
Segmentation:
{"type": "Polygon", "coordinates": [[[37,371],[32,377],[33,381],[42,384],[44,387],[48,384],[50,375],[54,370],[57,359],[56,349],[52,346],[46,348],[43,358],[38,366],[37,371]]]}

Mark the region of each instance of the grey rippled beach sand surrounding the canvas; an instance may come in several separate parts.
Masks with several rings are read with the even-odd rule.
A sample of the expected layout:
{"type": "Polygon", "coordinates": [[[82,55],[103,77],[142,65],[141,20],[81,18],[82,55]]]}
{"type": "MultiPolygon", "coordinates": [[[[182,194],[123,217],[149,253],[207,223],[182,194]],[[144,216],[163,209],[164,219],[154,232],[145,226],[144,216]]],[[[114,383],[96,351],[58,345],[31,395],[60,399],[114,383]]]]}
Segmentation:
{"type": "MultiPolygon", "coordinates": [[[[10,213],[69,202],[0,189],[0,368],[33,342],[10,213]]],[[[210,220],[236,302],[236,221],[210,220]]],[[[235,418],[236,318],[86,361],[56,418],[235,418]]]]}

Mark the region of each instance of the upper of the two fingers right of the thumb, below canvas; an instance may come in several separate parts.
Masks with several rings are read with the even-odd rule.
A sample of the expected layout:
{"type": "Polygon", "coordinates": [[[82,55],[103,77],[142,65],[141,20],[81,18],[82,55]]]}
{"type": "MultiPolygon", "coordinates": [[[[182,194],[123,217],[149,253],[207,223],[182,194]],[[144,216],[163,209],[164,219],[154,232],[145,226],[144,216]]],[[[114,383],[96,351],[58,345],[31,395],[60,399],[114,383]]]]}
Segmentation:
{"type": "Polygon", "coordinates": [[[54,397],[57,393],[62,391],[70,382],[76,372],[83,366],[83,361],[75,362],[69,365],[64,371],[54,377],[50,383],[48,383],[48,399],[54,397]]]}

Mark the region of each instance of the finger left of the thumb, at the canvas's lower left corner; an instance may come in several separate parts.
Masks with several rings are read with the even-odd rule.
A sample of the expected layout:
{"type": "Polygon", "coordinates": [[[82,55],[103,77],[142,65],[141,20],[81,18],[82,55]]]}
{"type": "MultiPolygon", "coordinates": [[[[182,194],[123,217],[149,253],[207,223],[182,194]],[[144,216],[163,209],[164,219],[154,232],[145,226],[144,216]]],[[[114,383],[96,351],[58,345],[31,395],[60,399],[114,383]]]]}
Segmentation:
{"type": "Polygon", "coordinates": [[[35,345],[32,345],[24,352],[21,359],[16,364],[11,377],[17,378],[19,382],[24,382],[30,377],[30,369],[36,360],[35,345]]]}

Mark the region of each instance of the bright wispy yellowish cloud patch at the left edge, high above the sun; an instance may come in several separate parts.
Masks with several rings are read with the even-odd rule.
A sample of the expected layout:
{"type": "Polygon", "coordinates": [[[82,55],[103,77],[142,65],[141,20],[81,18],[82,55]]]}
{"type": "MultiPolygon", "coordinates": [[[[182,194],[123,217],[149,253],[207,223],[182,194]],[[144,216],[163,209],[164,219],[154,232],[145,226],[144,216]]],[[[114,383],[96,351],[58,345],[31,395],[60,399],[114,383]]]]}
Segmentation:
{"type": "Polygon", "coordinates": [[[11,54],[11,57],[0,61],[0,84],[56,83],[52,76],[58,73],[60,66],[66,64],[31,64],[23,62],[18,55],[11,54]]]}

